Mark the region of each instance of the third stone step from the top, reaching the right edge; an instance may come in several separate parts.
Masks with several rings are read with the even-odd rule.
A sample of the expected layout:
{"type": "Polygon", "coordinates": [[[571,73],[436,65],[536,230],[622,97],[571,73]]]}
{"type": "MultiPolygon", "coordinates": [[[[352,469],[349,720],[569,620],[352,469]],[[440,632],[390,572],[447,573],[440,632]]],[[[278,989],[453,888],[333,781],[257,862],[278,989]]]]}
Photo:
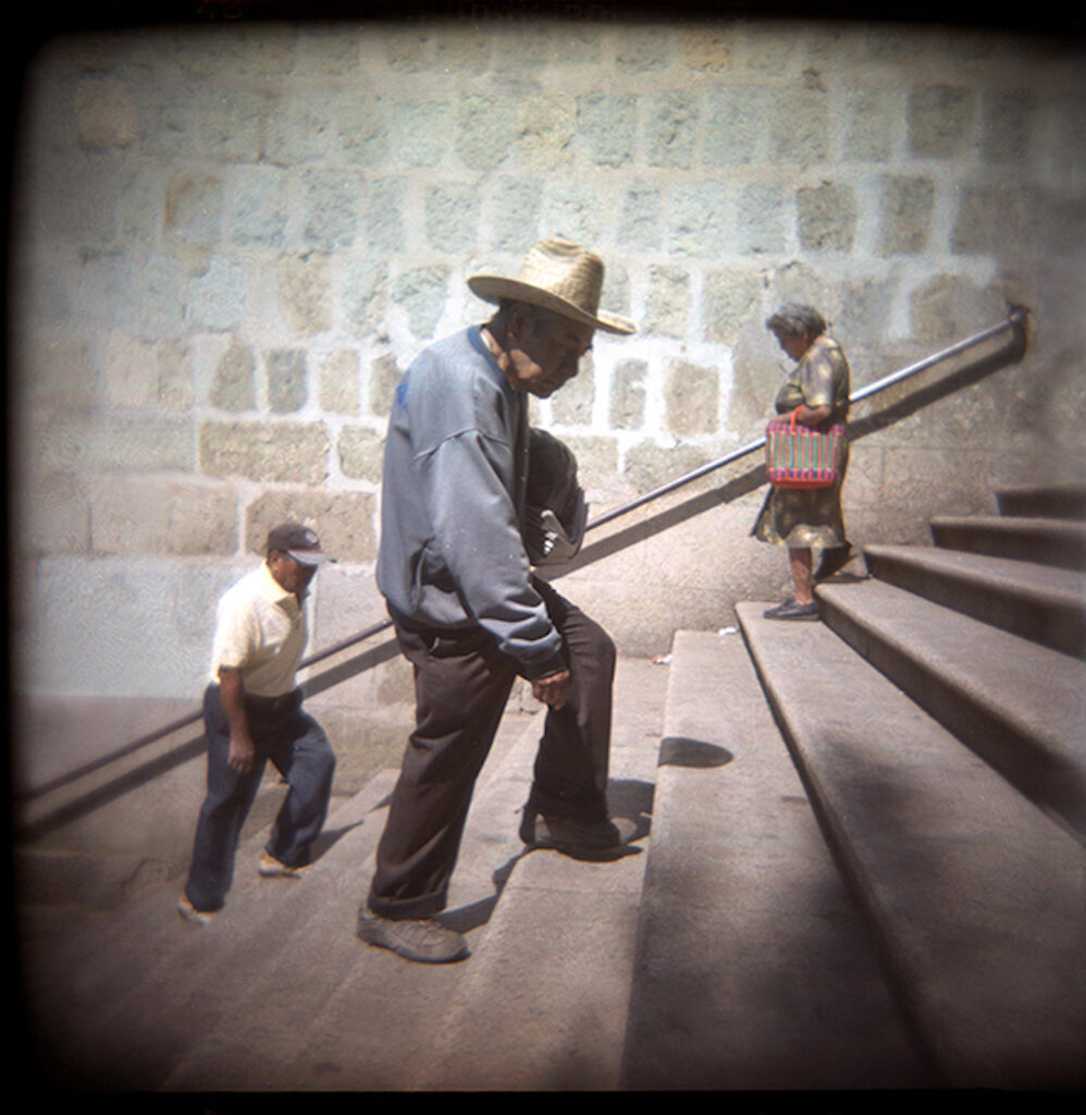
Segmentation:
{"type": "Polygon", "coordinates": [[[1086,657],[1086,573],[926,546],[867,546],[864,558],[880,581],[1086,657]]]}

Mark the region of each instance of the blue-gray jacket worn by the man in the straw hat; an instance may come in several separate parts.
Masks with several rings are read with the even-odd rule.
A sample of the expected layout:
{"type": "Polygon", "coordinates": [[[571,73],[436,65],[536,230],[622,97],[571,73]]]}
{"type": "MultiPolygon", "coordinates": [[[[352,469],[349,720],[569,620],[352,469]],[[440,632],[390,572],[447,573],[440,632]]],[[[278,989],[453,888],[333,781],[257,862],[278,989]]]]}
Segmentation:
{"type": "Polygon", "coordinates": [[[478,327],[425,349],[389,417],[376,581],[393,618],[479,624],[540,678],[565,662],[522,542],[527,464],[527,396],[478,327]]]}

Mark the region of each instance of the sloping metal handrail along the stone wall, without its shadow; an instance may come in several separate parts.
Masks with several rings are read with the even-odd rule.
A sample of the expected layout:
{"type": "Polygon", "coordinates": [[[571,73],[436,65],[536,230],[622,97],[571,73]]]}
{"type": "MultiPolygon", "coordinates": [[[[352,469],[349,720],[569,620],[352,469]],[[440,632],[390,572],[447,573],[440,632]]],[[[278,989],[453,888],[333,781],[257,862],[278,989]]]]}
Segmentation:
{"type": "MultiPolygon", "coordinates": [[[[882,379],[875,380],[873,384],[869,384],[867,387],[862,387],[854,391],[849,399],[850,405],[860,403],[861,400],[869,398],[880,391],[884,391],[888,387],[892,387],[894,384],[900,384],[902,380],[909,379],[916,376],[918,372],[924,371],[928,368],[933,367],[937,363],[941,363],[943,360],[949,360],[953,356],[958,356],[968,349],[975,348],[977,345],[981,345],[994,337],[998,337],[1000,333],[1008,332],[1011,329],[1017,329],[1020,327],[1029,317],[1029,310],[1026,307],[1014,306],[1008,303],[1007,306],[1008,314],[1007,318],[995,324],[989,326],[987,329],[982,329],[980,332],[972,333],[965,340],[957,341],[953,345],[948,346],[945,349],[940,349],[938,352],[926,357],[922,360],[918,360],[916,363],[910,363],[904,368],[900,368],[898,371],[890,372],[890,375],[884,376],[882,379]]],[[[694,481],[701,479],[703,476],[707,476],[710,473],[714,473],[726,465],[733,464],[743,457],[750,456],[752,453],[756,453],[765,446],[765,438],[760,437],[749,444],[742,446],[738,449],[733,449],[731,453],[725,454],[723,457],[718,457],[715,460],[711,460],[707,464],[701,465],[699,467],[693,469],[692,472],[684,473],[682,476],[676,477],[673,481],[668,481],[666,484],[661,485],[657,488],[653,488],[650,492],[646,492],[644,495],[637,496],[637,498],[629,501],[612,511],[605,512],[597,518],[591,520],[586,526],[586,533],[588,531],[594,531],[606,523],[614,522],[623,515],[629,514],[632,511],[636,511],[638,507],[643,507],[648,503],[661,498],[661,496],[668,495],[675,492],[677,488],[685,487],[687,484],[692,484],[694,481]]],[[[299,669],[306,669],[307,667],[314,666],[316,662],[323,661],[326,658],[331,658],[334,655],[339,655],[344,650],[349,650],[351,647],[358,646],[360,642],[365,642],[368,639],[372,639],[375,634],[380,634],[382,631],[389,630],[392,627],[392,621],[390,619],[380,620],[376,623],[356,632],[353,636],[349,636],[346,639],[340,642],[333,643],[330,647],[325,647],[323,650],[316,651],[309,658],[302,660],[299,665],[299,669]]],[[[58,789],[69,783],[76,782],[79,778],[85,777],[88,774],[92,774],[95,770],[101,769],[108,766],[110,763],[116,763],[118,759],[125,758],[144,747],[149,746],[158,739],[163,739],[166,736],[173,735],[175,731],[179,731],[182,728],[186,728],[192,724],[196,724],[203,717],[203,711],[197,710],[178,720],[174,720],[167,724],[163,728],[158,728],[155,731],[148,733],[145,736],[140,736],[138,739],[133,740],[127,744],[120,750],[114,752],[110,755],[102,756],[101,758],[94,759],[90,763],[78,767],[75,770],[70,770],[67,774],[60,775],[59,777],[52,779],[52,782],[47,783],[43,786],[39,786],[35,789],[27,791],[21,799],[22,801],[33,801],[35,798],[42,797],[43,795],[50,793],[53,789],[58,789]]]]}

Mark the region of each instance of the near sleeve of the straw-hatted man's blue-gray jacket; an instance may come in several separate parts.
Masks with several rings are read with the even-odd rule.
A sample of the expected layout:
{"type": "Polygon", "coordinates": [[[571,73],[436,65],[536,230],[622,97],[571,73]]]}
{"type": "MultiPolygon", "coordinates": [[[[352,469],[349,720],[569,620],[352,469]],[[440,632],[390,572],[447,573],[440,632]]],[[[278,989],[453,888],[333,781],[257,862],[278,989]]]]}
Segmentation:
{"type": "Polygon", "coordinates": [[[528,678],[565,669],[561,637],[531,585],[516,507],[502,482],[511,449],[478,429],[446,438],[415,462],[433,546],[468,613],[528,678]]]}

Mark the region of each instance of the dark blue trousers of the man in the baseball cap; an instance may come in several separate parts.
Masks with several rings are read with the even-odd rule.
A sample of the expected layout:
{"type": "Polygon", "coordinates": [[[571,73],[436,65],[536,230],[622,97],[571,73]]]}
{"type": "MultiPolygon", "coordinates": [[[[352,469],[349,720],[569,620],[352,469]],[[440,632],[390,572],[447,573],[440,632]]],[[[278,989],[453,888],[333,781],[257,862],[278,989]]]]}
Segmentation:
{"type": "Polygon", "coordinates": [[[301,708],[301,692],[275,701],[245,698],[250,735],[256,748],[253,769],[232,770],[229,724],[218,686],[204,694],[207,733],[207,796],[199,811],[193,862],[185,894],[197,910],[219,910],[234,879],[234,855],[242,826],[260,788],[268,760],[290,789],[265,845],[291,867],[310,862],[310,847],[321,834],[332,793],[335,755],[324,729],[301,708]]]}

